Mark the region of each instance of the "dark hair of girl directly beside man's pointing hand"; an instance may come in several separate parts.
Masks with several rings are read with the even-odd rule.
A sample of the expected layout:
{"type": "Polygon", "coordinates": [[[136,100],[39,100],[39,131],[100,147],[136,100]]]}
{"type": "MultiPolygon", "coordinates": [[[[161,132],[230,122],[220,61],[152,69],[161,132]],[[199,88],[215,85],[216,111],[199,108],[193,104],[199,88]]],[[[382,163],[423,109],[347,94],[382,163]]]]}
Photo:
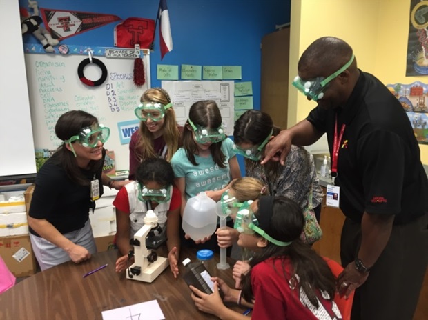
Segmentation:
{"type": "MultiPolygon", "coordinates": [[[[258,110],[248,110],[235,121],[233,127],[233,140],[236,144],[251,143],[260,145],[266,139],[271,131],[274,136],[281,131],[280,128],[273,125],[272,118],[266,112],[258,110]]],[[[253,170],[258,165],[257,161],[244,158],[245,168],[253,170]]],[[[264,172],[269,180],[275,181],[282,172],[282,166],[279,162],[269,161],[264,165],[264,172]]],[[[271,191],[271,190],[270,190],[271,191]]]]}

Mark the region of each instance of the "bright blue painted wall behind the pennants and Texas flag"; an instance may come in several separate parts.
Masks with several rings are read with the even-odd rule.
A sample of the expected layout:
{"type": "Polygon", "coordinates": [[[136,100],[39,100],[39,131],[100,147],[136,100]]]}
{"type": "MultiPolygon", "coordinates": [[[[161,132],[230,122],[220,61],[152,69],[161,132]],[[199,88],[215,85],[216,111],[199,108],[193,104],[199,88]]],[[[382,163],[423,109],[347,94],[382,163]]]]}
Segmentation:
{"type": "MultiPolygon", "coordinates": [[[[121,19],[155,19],[158,0],[47,1],[39,8],[115,14],[121,19]]],[[[275,25],[290,22],[290,0],[167,0],[173,34],[173,51],[160,59],[159,32],[150,54],[151,84],[160,86],[156,66],[195,64],[242,66],[242,81],[253,81],[254,107],[260,109],[260,43],[275,25]]],[[[19,0],[27,8],[28,2],[19,0]]],[[[78,34],[62,44],[113,47],[113,29],[120,21],[78,34]]],[[[24,43],[38,43],[26,36],[24,43]]]]}

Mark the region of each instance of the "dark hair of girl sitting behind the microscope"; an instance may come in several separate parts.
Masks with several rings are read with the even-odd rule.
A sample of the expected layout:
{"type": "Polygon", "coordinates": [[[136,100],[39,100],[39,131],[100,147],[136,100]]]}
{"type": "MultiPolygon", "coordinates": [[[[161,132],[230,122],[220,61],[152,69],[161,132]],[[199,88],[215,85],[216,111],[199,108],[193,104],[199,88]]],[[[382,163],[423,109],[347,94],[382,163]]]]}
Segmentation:
{"type": "Polygon", "coordinates": [[[148,158],[139,163],[135,179],[139,183],[156,181],[162,186],[171,186],[174,183],[174,171],[171,164],[162,158],[148,158]]]}

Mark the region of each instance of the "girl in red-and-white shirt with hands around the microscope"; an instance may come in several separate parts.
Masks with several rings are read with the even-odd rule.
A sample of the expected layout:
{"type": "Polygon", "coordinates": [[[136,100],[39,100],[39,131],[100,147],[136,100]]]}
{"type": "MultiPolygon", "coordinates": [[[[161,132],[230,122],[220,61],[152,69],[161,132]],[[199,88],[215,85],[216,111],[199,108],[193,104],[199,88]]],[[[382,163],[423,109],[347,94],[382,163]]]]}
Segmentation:
{"type": "MultiPolygon", "coordinates": [[[[133,249],[129,241],[144,226],[148,210],[157,215],[161,227],[150,241],[162,243],[166,240],[168,261],[174,277],[177,277],[179,258],[179,221],[182,198],[174,185],[174,172],[165,159],[149,158],[139,164],[137,181],[131,181],[117,193],[113,206],[116,207],[117,233],[115,245],[121,257],[116,261],[116,272],[128,266],[128,252],[133,249]]],[[[130,261],[129,265],[133,261],[130,261]]]]}

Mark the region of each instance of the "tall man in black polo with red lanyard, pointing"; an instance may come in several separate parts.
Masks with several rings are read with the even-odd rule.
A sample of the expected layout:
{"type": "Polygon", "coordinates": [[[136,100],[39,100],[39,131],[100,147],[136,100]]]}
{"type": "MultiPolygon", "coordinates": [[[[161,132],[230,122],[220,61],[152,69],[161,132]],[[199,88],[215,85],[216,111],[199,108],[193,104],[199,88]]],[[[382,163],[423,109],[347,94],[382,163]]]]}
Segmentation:
{"type": "Polygon", "coordinates": [[[298,74],[293,85],[318,106],[266,146],[262,163],[284,163],[291,143],[307,146],[327,132],[335,177],[327,199],[338,192],[347,217],[338,290],[356,289],[351,319],[410,320],[427,270],[428,179],[409,119],[341,39],[314,41],[298,74]]]}

